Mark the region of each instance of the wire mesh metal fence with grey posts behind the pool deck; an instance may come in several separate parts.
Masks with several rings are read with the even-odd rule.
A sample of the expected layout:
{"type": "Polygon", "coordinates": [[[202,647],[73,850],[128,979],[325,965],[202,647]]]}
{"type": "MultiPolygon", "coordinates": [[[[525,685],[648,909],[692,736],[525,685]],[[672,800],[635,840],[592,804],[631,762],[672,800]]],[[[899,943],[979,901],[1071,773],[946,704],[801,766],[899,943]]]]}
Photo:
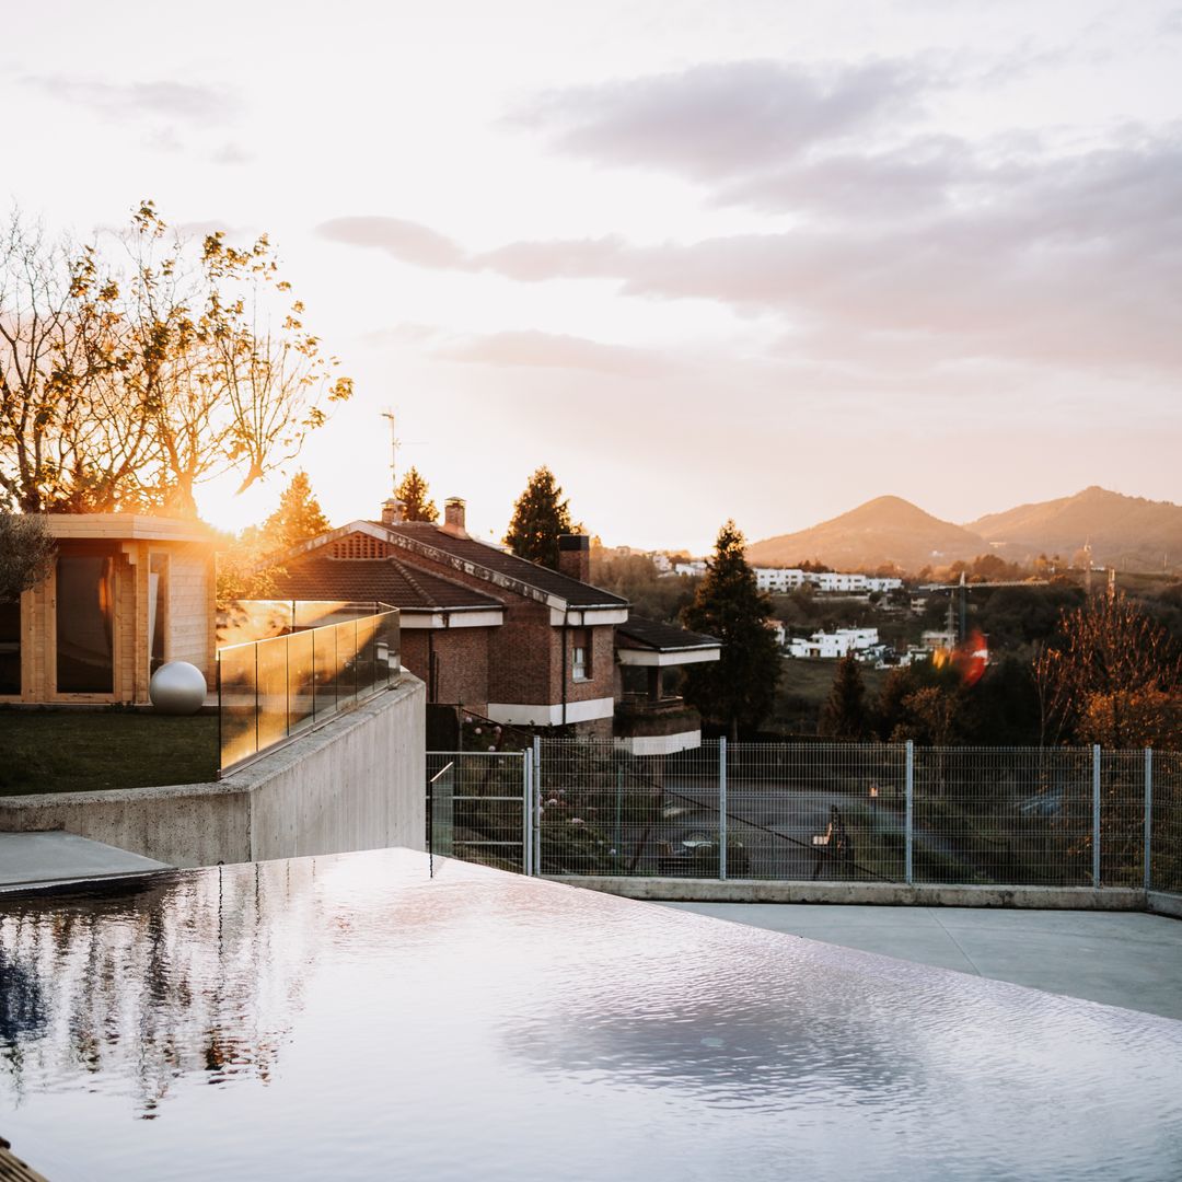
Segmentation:
{"type": "Polygon", "coordinates": [[[527,872],[1182,891],[1177,752],[538,739],[429,768],[452,759],[456,855],[527,872]]]}

